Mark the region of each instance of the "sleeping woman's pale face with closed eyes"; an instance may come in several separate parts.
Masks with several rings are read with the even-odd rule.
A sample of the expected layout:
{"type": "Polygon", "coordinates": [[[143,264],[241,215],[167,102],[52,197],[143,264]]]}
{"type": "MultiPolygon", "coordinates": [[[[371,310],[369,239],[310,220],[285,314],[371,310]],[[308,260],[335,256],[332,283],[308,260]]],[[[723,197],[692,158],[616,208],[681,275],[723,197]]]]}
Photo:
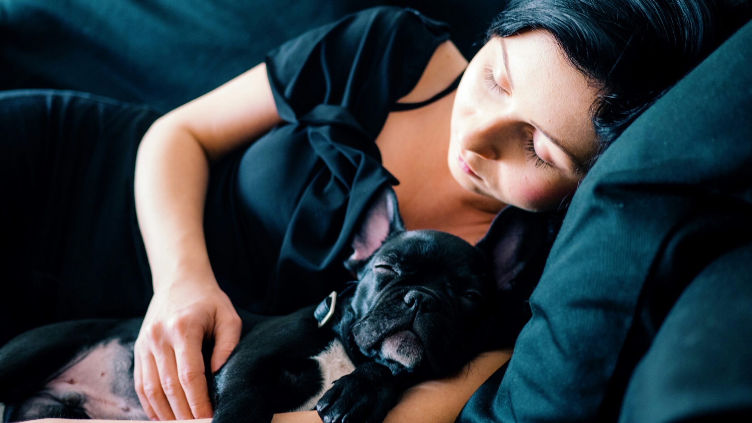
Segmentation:
{"type": "Polygon", "coordinates": [[[549,32],[494,37],[457,88],[449,167],[465,189],[525,210],[556,209],[596,152],[597,89],[549,32]]]}

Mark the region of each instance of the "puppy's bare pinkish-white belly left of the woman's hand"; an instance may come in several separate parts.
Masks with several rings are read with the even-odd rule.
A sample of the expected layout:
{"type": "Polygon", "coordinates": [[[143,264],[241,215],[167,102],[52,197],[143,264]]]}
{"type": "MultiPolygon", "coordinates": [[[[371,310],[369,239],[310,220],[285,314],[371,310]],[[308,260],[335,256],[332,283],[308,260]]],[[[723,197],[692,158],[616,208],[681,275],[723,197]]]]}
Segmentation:
{"type": "Polygon", "coordinates": [[[89,418],[148,420],[129,377],[132,346],[111,340],[83,354],[47,383],[43,392],[58,398],[83,398],[80,405],[89,418]]]}

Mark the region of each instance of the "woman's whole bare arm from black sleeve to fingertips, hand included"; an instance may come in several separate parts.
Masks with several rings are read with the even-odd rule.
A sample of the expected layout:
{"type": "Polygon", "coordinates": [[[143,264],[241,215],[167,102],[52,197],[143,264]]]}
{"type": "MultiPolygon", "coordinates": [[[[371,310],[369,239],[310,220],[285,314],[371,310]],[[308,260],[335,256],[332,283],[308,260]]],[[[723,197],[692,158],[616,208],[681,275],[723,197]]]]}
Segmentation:
{"type": "Polygon", "coordinates": [[[134,347],[134,379],[150,418],[211,416],[202,340],[214,337],[217,370],[238,343],[241,322],[206,249],[209,162],[278,122],[261,64],[157,119],[141,140],[135,203],[154,296],[134,347]]]}

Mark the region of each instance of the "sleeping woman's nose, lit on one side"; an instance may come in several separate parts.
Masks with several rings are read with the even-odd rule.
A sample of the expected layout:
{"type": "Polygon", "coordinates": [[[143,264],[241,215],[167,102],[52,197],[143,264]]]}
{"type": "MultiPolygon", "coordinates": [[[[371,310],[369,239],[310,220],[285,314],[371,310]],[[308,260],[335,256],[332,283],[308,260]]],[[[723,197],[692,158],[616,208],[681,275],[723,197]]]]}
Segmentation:
{"type": "Polygon", "coordinates": [[[465,125],[456,134],[457,141],[462,150],[483,159],[498,160],[502,157],[504,140],[512,135],[514,122],[508,116],[486,114],[475,112],[465,116],[465,125]]]}

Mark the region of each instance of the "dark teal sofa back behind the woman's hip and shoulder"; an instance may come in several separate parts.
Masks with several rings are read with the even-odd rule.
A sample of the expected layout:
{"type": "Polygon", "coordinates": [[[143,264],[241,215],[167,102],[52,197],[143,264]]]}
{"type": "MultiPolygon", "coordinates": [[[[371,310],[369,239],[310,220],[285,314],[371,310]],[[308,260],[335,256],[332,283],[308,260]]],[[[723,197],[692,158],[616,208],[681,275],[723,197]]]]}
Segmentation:
{"type": "Polygon", "coordinates": [[[0,89],[74,89],[167,111],[308,29],[375,5],[450,23],[475,54],[504,0],[3,0],[0,89]]]}

